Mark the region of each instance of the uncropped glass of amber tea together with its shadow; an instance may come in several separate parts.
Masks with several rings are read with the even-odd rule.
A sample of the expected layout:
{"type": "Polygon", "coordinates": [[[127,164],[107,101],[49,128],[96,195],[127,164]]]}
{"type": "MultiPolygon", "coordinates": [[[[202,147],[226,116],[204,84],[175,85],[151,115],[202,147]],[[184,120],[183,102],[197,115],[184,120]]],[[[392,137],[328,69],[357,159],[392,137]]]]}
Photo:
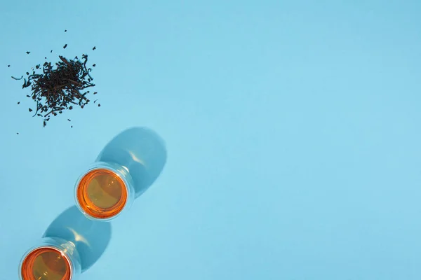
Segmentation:
{"type": "Polygon", "coordinates": [[[144,127],[118,134],[76,181],[76,206],[87,217],[109,221],[131,207],[166,162],[161,137],[144,127]]]}

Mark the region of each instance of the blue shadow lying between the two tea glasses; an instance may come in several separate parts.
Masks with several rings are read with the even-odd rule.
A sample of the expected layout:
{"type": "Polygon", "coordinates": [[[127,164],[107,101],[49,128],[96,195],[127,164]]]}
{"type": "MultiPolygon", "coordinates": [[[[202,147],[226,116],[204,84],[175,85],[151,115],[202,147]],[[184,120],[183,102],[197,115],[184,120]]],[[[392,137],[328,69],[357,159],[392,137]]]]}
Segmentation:
{"type": "Polygon", "coordinates": [[[73,206],[55,218],[43,237],[58,237],[72,241],[81,259],[81,272],[84,272],[107,248],[111,239],[111,224],[91,221],[73,206]]]}

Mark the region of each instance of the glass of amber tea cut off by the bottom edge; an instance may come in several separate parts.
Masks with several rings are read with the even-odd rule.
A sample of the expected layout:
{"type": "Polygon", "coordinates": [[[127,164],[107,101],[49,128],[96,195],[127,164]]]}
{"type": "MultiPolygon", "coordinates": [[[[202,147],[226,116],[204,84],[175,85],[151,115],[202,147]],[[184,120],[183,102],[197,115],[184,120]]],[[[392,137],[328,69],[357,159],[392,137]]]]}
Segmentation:
{"type": "Polygon", "coordinates": [[[46,237],[30,248],[19,265],[20,280],[75,280],[81,274],[74,244],[46,237]]]}

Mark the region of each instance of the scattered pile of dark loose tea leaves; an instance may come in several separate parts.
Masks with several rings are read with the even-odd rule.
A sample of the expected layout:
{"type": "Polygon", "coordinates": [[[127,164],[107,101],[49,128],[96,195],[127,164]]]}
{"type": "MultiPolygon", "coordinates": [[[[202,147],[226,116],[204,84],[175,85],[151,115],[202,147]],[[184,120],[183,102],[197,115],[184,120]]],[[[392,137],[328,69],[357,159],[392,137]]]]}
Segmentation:
{"type": "MultiPolygon", "coordinates": [[[[63,48],[66,47],[67,44],[63,48]]],[[[95,47],[93,49],[95,50],[95,47]]],[[[29,52],[27,53],[29,54],[29,52]]],[[[74,59],[67,59],[61,55],[58,57],[60,61],[55,65],[51,62],[44,62],[42,66],[41,64],[36,65],[35,69],[32,69],[32,73],[26,72],[26,78],[12,76],[15,80],[24,80],[22,88],[31,87],[32,94],[27,97],[36,102],[36,107],[35,109],[29,108],[29,112],[34,111],[34,116],[43,118],[44,127],[51,116],[57,116],[65,110],[72,110],[74,106],[80,106],[83,109],[90,102],[86,97],[89,90],[85,90],[95,86],[90,74],[92,69],[86,66],[88,55],[83,54],[82,60],[79,60],[78,57],[74,57],[74,59]],[[36,73],[36,71],[42,72],[36,73]]],[[[93,94],[96,93],[93,92],[93,94]]]]}

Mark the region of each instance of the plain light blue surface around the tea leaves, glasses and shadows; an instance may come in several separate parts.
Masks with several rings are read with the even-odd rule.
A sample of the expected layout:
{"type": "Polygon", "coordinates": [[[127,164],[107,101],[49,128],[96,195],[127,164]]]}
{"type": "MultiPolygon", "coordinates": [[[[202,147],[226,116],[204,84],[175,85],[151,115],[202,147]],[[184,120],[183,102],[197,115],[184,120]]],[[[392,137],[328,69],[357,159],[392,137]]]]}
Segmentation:
{"type": "Polygon", "coordinates": [[[421,279],[421,1],[4,1],[0,15],[0,279],[132,126],[166,141],[166,167],[82,280],[421,279]],[[43,128],[10,77],[83,52],[102,106],[43,128]]]}

